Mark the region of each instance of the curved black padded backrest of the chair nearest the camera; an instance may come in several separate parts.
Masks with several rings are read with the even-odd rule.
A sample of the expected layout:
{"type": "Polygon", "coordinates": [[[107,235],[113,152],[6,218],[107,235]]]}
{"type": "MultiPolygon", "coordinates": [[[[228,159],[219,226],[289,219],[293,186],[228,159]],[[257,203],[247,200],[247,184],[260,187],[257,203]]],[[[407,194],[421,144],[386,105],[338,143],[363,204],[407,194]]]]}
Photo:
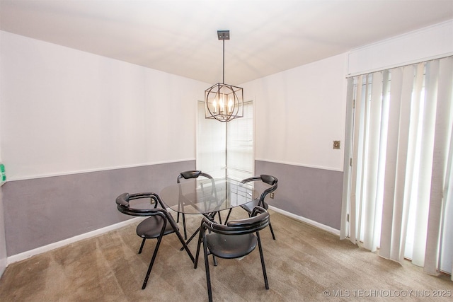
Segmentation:
{"type": "Polygon", "coordinates": [[[213,233],[223,235],[244,235],[256,233],[269,225],[269,213],[263,207],[253,208],[250,218],[228,221],[226,225],[210,221],[203,217],[202,230],[210,230],[213,233]]]}

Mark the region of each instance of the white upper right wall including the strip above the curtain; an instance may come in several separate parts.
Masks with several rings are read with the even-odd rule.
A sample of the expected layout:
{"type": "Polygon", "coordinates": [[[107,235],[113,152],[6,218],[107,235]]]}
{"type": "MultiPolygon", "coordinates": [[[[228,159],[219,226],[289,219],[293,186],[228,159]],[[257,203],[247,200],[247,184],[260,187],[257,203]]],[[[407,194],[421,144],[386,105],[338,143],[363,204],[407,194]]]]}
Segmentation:
{"type": "Polygon", "coordinates": [[[453,21],[243,84],[246,99],[256,100],[256,159],[343,170],[348,74],[449,54],[453,21]]]}

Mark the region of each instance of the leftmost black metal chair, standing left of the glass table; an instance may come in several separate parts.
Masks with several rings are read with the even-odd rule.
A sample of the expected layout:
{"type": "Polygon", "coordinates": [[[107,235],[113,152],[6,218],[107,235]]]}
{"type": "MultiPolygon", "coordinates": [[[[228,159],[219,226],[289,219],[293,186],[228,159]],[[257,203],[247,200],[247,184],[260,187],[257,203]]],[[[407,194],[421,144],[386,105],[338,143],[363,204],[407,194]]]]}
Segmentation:
{"type": "Polygon", "coordinates": [[[183,243],[183,248],[188,253],[192,262],[194,258],[190,252],[188,246],[185,244],[183,236],[179,233],[179,228],[176,222],[174,221],[171,214],[166,211],[164,204],[162,203],[158,194],[155,193],[137,193],[129,194],[123,193],[116,199],[117,209],[123,214],[132,215],[132,216],[149,216],[147,219],[144,219],[137,226],[137,235],[140,238],[143,238],[142,244],[140,245],[139,254],[142,252],[145,240],[147,239],[157,239],[156,247],[154,248],[153,256],[151,262],[149,263],[148,271],[144,277],[142,289],[145,289],[149,279],[149,274],[154,265],[154,260],[156,260],[157,251],[159,250],[159,245],[164,236],[176,233],[181,243],[183,243]],[[130,206],[130,201],[133,199],[150,199],[150,205],[154,204],[153,208],[150,209],[138,209],[130,206]],[[160,205],[161,208],[158,208],[157,205],[160,205]]]}

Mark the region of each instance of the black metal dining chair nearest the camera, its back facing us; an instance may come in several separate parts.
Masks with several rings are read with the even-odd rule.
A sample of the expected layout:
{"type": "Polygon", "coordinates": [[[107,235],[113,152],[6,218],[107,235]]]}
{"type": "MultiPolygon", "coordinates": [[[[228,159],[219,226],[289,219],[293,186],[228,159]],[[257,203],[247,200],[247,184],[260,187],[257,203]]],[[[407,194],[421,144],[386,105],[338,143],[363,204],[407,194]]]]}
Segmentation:
{"type": "Polygon", "coordinates": [[[269,213],[262,207],[255,207],[250,218],[229,221],[226,225],[210,221],[210,219],[207,219],[206,217],[203,218],[200,226],[200,236],[198,239],[194,267],[195,269],[197,268],[200,246],[203,244],[207,295],[209,301],[212,301],[212,289],[208,256],[213,255],[225,259],[240,258],[253,252],[256,245],[258,245],[258,250],[260,251],[265,289],[269,289],[259,233],[259,231],[268,226],[268,224],[269,213]],[[207,231],[209,233],[207,233],[207,231]]]}

